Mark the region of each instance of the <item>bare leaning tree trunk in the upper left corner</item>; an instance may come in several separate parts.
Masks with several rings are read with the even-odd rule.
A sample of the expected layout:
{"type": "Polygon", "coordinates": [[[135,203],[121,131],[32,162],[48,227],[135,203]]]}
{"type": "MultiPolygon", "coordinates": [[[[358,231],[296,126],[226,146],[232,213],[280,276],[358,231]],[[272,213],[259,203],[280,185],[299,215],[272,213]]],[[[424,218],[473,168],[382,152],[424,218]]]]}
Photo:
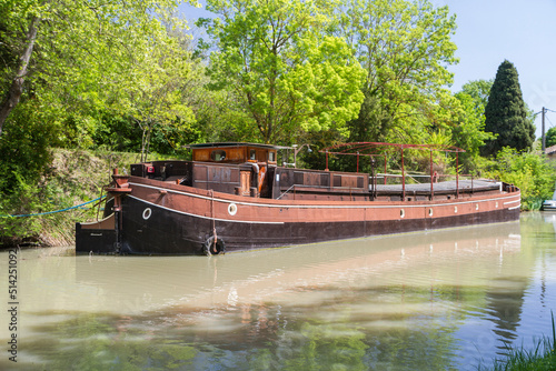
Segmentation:
{"type": "Polygon", "coordinates": [[[27,33],[27,47],[23,49],[23,52],[19,58],[19,70],[16,78],[11,82],[10,90],[8,90],[8,94],[4,98],[2,106],[0,106],[0,136],[2,134],[2,127],[6,119],[8,119],[11,110],[19,103],[21,94],[23,93],[23,82],[27,76],[27,68],[29,67],[29,61],[31,60],[31,54],[34,48],[34,41],[37,40],[38,23],[39,19],[34,17],[27,33]]]}

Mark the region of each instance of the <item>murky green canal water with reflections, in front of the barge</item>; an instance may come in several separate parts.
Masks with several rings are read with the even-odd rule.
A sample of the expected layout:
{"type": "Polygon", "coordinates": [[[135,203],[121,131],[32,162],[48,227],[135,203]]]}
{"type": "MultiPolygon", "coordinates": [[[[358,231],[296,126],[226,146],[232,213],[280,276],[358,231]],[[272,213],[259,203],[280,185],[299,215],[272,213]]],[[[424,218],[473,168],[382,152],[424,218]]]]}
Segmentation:
{"type": "Polygon", "coordinates": [[[476,370],[552,335],[555,228],[524,213],[211,258],[2,251],[0,369],[476,370]]]}

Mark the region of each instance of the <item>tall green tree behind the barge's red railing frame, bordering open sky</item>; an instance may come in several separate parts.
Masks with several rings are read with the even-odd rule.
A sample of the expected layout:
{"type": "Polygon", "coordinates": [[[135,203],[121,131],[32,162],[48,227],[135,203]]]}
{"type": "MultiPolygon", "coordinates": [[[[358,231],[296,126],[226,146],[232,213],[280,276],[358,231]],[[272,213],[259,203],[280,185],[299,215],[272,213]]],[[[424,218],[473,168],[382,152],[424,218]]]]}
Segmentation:
{"type": "Polygon", "coordinates": [[[353,139],[420,139],[445,119],[438,106],[453,100],[446,88],[453,80],[447,67],[457,62],[455,17],[447,7],[407,0],[349,0],[338,13],[338,34],[366,71],[365,103],[350,122],[365,136],[353,139]]]}

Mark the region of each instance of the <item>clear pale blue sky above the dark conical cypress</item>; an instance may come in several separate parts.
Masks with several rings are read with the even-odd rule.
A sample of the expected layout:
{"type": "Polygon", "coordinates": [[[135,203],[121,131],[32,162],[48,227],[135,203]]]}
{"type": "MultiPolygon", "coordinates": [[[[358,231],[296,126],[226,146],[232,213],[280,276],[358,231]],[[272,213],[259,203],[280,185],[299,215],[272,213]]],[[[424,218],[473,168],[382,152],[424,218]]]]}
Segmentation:
{"type": "MultiPolygon", "coordinates": [[[[556,127],[556,0],[429,0],[448,6],[456,14],[459,63],[450,89],[457,92],[473,80],[490,80],[507,59],[519,73],[527,106],[536,113],[548,111],[545,132],[556,127]]],[[[205,3],[205,1],[200,1],[205,3]]],[[[206,17],[202,9],[185,10],[189,20],[206,17]]],[[[537,138],[542,136],[542,114],[535,119],[537,138]]]]}

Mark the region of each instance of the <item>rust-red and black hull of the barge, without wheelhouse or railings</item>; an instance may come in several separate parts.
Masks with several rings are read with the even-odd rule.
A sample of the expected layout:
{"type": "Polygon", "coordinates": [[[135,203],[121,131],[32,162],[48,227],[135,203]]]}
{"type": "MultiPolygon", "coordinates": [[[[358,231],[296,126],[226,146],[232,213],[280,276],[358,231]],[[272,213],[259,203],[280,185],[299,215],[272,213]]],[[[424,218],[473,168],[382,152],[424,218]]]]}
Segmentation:
{"type": "Polygon", "coordinates": [[[220,252],[277,248],[512,221],[520,205],[516,189],[450,200],[308,201],[241,197],[141,177],[128,182],[131,191],[121,197],[117,228],[120,243],[115,247],[98,228],[78,224],[78,252],[203,254],[215,234],[220,252]]]}

